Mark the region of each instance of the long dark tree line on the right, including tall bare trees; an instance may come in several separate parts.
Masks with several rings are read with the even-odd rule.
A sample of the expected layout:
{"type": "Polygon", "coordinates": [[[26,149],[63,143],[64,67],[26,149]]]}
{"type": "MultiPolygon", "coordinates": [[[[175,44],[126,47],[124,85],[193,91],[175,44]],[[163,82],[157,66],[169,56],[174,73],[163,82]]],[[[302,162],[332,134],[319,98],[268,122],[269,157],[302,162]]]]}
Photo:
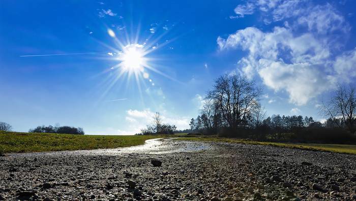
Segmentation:
{"type": "Polygon", "coordinates": [[[219,77],[204,98],[200,114],[190,121],[191,132],[262,141],[356,143],[356,96],[353,86],[341,86],[323,102],[327,121],[313,117],[267,116],[260,104],[261,88],[246,77],[219,77]]]}

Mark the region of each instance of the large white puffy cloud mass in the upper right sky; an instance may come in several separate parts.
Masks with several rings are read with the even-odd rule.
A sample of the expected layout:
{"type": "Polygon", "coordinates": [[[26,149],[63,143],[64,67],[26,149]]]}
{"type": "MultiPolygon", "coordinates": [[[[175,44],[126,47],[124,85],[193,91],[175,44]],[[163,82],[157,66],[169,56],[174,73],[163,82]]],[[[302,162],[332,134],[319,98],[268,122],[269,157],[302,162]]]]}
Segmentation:
{"type": "Polygon", "coordinates": [[[275,22],[287,21],[270,31],[246,27],[226,39],[218,37],[220,50],[239,48],[248,53],[238,61],[248,78],[259,76],[266,86],[286,91],[291,103],[304,105],[338,82],[356,77],[352,65],[356,50],[335,50],[342,47],[336,36],[343,37],[349,25],[330,4],[314,6],[303,0],[249,2],[261,12],[272,13],[275,22]]]}

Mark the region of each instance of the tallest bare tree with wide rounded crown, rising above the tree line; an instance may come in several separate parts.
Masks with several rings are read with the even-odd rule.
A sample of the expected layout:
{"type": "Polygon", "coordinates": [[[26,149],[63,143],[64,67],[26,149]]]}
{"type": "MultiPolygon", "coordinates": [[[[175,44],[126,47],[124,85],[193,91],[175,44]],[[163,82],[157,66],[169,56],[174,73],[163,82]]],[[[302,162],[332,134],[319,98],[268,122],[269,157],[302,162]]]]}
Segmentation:
{"type": "Polygon", "coordinates": [[[257,107],[261,89],[241,75],[223,75],[215,81],[208,97],[218,103],[223,119],[230,128],[246,124],[257,107]]]}

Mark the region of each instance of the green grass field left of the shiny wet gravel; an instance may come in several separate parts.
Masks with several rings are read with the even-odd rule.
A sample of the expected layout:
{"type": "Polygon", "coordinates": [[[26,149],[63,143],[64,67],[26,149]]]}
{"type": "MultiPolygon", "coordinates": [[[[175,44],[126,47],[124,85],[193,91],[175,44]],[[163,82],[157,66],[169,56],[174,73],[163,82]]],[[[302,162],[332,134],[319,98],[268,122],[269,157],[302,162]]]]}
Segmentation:
{"type": "Polygon", "coordinates": [[[42,152],[129,147],[165,136],[90,136],[0,131],[0,152],[42,152]]]}

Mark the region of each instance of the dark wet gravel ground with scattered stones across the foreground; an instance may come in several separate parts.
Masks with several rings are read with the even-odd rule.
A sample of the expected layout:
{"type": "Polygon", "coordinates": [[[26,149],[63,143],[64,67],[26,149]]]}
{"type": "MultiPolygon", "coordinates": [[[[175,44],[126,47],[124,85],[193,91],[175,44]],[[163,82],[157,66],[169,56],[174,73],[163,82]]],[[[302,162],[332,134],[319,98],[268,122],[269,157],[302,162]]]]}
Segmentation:
{"type": "Polygon", "coordinates": [[[0,200],[356,200],[356,155],[271,146],[150,140],[0,164],[0,200]]]}

